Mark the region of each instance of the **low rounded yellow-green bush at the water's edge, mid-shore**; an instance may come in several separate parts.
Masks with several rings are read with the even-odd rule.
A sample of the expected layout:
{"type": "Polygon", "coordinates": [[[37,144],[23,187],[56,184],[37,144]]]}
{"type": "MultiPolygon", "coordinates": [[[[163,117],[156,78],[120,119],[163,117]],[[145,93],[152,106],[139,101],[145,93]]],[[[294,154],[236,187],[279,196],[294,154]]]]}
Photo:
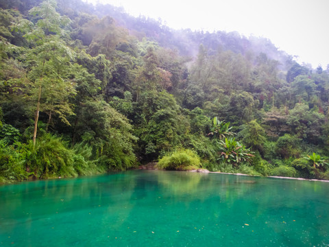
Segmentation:
{"type": "Polygon", "coordinates": [[[201,167],[199,156],[192,150],[177,150],[163,156],[158,162],[159,169],[188,170],[201,167]]]}

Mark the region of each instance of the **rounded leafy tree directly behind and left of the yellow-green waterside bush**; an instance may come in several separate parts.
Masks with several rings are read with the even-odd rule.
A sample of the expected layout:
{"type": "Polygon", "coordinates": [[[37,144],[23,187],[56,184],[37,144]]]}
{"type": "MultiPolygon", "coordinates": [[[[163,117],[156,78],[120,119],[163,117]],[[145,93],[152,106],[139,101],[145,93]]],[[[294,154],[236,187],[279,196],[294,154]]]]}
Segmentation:
{"type": "Polygon", "coordinates": [[[134,115],[139,152],[141,156],[147,154],[148,160],[173,150],[190,129],[175,98],[167,91],[143,92],[135,104],[134,115]]]}

